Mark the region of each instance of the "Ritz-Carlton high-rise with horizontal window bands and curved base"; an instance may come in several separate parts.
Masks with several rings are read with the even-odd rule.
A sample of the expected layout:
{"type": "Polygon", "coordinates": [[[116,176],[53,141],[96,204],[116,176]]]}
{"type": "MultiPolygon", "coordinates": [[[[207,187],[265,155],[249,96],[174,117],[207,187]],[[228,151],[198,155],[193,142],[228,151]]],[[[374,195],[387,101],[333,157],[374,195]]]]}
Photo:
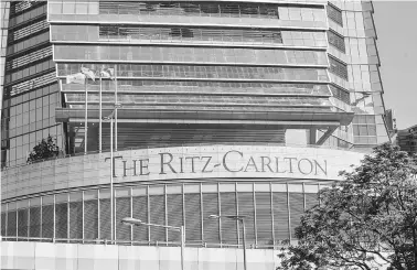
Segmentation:
{"type": "Polygon", "coordinates": [[[175,241],[119,225],[132,216],[184,224],[189,245],[242,244],[237,223],[206,219],[222,214],[270,248],[352,150],[389,140],[370,1],[1,4],[10,239],[111,239],[113,174],[118,242],[175,241]],[[49,134],[60,159],[26,164],[49,134]]]}

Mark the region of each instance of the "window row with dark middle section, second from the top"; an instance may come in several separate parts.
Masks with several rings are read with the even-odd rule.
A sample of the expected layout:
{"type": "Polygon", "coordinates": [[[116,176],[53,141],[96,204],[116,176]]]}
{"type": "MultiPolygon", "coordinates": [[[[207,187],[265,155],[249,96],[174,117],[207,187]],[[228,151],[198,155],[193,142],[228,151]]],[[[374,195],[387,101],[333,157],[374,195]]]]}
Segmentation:
{"type": "Polygon", "coordinates": [[[325,47],[325,32],[289,31],[265,29],[231,29],[231,28],[185,28],[185,26],[135,26],[128,24],[106,25],[52,25],[54,41],[106,41],[117,43],[120,40],[130,43],[149,42],[186,42],[186,43],[249,43],[249,44],[284,44],[292,46],[325,47]]]}

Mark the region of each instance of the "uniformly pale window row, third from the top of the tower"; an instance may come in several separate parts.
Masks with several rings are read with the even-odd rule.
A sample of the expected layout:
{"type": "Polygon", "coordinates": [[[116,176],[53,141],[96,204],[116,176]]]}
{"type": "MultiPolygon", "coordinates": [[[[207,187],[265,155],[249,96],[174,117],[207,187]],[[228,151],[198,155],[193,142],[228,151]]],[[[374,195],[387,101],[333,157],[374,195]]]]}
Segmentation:
{"type": "Polygon", "coordinates": [[[324,52],[239,47],[55,46],[55,60],[328,65],[324,52]]]}

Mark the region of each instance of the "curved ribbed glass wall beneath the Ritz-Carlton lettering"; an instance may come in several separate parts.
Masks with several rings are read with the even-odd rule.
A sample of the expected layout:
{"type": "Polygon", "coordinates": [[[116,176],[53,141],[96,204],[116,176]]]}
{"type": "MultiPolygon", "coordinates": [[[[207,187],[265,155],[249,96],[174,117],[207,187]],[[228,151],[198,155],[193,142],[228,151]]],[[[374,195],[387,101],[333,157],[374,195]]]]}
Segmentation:
{"type": "MultiPolygon", "coordinates": [[[[185,226],[189,245],[240,245],[235,220],[210,215],[246,216],[247,242],[279,245],[296,239],[295,227],[317,201],[319,184],[275,182],[175,183],[116,188],[116,240],[138,245],[173,245],[178,233],[122,225],[124,217],[146,223],[185,226]],[[158,244],[159,242],[159,244],[158,244]]],[[[110,240],[109,190],[60,193],[2,205],[2,236],[10,240],[40,237],[44,241],[110,240]],[[15,238],[18,237],[18,238],[15,238]]]]}

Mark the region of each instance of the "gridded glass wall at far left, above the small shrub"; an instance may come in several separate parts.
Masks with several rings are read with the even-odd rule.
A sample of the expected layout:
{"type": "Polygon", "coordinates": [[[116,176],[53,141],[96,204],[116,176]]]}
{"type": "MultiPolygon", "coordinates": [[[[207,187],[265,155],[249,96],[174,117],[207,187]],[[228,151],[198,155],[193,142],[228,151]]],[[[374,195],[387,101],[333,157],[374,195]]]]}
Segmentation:
{"type": "MultiPolygon", "coordinates": [[[[10,4],[10,14],[6,24],[8,36],[2,39],[7,41],[7,50],[4,73],[1,73],[4,74],[1,114],[2,168],[25,164],[33,147],[47,136],[56,140],[61,150],[65,150],[62,125],[55,122],[55,108],[61,107],[61,96],[52,61],[50,25],[46,21],[47,3],[7,3],[10,4]]],[[[4,1],[1,4],[3,7],[4,1]]]]}

